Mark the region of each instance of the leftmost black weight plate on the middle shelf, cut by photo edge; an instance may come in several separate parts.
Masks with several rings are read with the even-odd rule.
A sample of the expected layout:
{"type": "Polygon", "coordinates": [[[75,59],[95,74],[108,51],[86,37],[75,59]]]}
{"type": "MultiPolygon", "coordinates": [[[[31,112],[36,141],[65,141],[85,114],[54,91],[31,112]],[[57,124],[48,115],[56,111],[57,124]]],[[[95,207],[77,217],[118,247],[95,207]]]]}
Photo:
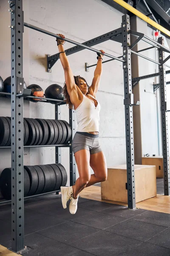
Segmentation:
{"type": "Polygon", "coordinates": [[[0,146],[5,146],[9,139],[9,124],[5,117],[0,117],[0,146]]]}

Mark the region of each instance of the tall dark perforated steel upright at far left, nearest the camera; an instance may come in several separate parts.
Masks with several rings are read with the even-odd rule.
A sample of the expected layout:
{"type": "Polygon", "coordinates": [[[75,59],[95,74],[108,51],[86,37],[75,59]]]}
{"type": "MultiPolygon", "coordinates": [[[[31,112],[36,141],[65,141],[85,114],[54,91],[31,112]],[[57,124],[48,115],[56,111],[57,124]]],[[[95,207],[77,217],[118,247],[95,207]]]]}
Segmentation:
{"type": "Polygon", "coordinates": [[[9,1],[11,12],[11,250],[24,248],[23,178],[23,1],[9,1]]]}

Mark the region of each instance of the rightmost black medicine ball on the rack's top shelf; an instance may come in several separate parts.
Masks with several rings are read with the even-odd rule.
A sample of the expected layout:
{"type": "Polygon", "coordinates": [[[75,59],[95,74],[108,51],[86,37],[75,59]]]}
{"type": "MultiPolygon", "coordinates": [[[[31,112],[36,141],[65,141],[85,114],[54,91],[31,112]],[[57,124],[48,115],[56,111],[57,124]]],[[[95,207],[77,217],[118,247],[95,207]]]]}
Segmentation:
{"type": "MultiPolygon", "coordinates": [[[[62,87],[59,84],[51,84],[45,90],[45,97],[49,99],[59,99],[64,100],[64,95],[62,93],[62,87]]],[[[59,104],[59,102],[48,101],[52,104],[59,104]]]]}

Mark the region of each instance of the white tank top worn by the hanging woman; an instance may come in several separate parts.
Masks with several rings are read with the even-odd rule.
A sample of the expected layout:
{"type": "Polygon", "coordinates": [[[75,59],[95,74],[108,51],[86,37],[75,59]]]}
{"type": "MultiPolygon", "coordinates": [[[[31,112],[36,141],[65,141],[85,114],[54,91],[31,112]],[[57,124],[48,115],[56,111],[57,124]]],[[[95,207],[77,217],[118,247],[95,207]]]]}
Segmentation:
{"type": "MultiPolygon", "coordinates": [[[[88,94],[93,99],[94,96],[88,94]]],[[[78,128],[77,131],[81,132],[89,132],[89,131],[98,131],[99,132],[99,112],[100,112],[100,104],[98,102],[95,107],[94,101],[92,99],[88,99],[83,94],[83,100],[79,107],[75,110],[78,128]]]]}

